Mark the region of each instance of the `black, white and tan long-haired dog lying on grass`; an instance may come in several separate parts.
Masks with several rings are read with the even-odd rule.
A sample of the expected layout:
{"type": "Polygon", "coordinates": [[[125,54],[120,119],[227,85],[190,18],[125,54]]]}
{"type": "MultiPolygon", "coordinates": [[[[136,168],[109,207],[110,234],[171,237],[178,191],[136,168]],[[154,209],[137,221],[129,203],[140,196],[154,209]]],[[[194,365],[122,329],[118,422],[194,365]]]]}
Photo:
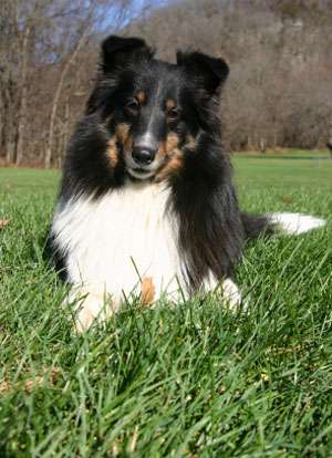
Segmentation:
{"type": "Polygon", "coordinates": [[[237,306],[231,277],[246,239],[324,221],[239,210],[218,116],[224,60],[178,51],[170,64],[144,40],[115,35],[101,54],[50,231],[77,330],[132,296],[149,304],[220,291],[237,306]]]}

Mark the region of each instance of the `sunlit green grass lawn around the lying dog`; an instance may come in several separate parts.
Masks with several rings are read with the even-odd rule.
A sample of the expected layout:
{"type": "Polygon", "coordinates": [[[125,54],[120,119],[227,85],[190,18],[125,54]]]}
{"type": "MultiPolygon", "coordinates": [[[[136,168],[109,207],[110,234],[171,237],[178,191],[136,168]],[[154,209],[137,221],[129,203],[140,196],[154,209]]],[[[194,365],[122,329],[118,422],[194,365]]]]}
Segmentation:
{"type": "Polygon", "coordinates": [[[246,313],[132,303],[84,336],[43,256],[60,174],[0,169],[1,457],[332,456],[332,163],[234,162],[243,209],[330,223],[248,246],[246,313]]]}

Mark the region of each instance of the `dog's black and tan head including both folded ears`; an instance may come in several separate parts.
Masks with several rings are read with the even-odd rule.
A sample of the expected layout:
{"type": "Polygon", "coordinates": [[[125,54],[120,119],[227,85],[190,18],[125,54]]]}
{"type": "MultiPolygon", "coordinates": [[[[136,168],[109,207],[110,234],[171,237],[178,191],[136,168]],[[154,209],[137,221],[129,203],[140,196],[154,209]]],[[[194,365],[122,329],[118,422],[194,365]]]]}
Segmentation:
{"type": "Polygon", "coordinates": [[[177,174],[203,132],[214,135],[219,92],[228,74],[221,59],[177,52],[177,64],[154,59],[143,40],[110,37],[101,75],[87,102],[110,133],[105,152],[131,177],[160,181],[177,174]]]}

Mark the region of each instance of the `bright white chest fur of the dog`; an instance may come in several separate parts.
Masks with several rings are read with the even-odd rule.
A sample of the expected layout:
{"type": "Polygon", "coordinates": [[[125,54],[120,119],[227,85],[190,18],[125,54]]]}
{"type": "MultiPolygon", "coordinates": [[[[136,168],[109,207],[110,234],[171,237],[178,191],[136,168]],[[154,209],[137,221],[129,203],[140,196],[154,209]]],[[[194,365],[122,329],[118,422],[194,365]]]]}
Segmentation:
{"type": "Polygon", "coordinates": [[[115,303],[123,293],[139,293],[145,277],[153,279],[155,299],[177,291],[175,275],[183,283],[178,226],[168,198],[162,185],[128,183],[97,200],[60,205],[52,231],[68,253],[69,280],[106,292],[115,303]]]}

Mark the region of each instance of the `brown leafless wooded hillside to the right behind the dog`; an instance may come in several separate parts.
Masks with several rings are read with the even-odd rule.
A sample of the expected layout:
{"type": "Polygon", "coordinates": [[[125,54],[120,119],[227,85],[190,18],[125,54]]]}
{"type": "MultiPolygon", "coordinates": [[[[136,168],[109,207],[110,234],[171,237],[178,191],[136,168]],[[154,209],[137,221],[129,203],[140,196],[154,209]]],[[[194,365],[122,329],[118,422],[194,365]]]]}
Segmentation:
{"type": "Polygon", "coordinates": [[[185,0],[131,24],[127,33],[199,48],[230,66],[226,139],[232,149],[324,146],[332,107],[332,3],[328,0],[185,0]]]}

